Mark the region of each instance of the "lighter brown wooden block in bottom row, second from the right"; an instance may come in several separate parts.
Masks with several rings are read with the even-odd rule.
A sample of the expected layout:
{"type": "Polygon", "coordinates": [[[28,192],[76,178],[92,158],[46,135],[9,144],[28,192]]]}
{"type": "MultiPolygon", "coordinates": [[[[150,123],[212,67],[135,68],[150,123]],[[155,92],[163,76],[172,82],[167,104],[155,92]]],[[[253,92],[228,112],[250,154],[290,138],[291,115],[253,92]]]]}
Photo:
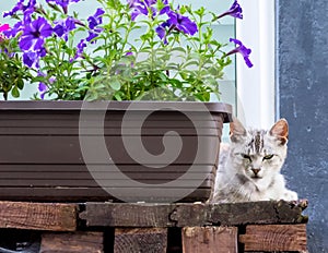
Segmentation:
{"type": "Polygon", "coordinates": [[[183,228],[184,253],[236,253],[238,251],[236,227],[183,228]]]}

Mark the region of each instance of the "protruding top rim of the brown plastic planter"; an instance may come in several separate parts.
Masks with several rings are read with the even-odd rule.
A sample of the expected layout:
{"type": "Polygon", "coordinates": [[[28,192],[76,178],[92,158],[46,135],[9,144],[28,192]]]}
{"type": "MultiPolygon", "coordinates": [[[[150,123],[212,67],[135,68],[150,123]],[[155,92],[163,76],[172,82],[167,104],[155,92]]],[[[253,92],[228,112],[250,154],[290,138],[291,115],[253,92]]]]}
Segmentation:
{"type": "Polygon", "coordinates": [[[83,101],[83,100],[11,100],[0,101],[0,110],[101,110],[108,105],[110,110],[181,110],[202,111],[203,104],[210,112],[232,115],[232,105],[221,101],[83,101]],[[133,104],[133,107],[129,106],[133,104]]]}

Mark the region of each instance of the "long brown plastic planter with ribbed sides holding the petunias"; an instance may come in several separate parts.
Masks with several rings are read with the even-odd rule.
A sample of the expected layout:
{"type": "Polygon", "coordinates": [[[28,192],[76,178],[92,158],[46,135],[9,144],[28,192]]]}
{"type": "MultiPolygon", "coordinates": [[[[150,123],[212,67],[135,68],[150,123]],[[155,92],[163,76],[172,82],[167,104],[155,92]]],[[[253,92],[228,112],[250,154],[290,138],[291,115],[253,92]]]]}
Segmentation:
{"type": "Polygon", "coordinates": [[[206,201],[231,113],[222,103],[0,101],[0,200],[206,201]],[[164,134],[181,141],[169,162],[164,134]],[[141,154],[139,138],[150,162],[127,152],[141,154]]]}

